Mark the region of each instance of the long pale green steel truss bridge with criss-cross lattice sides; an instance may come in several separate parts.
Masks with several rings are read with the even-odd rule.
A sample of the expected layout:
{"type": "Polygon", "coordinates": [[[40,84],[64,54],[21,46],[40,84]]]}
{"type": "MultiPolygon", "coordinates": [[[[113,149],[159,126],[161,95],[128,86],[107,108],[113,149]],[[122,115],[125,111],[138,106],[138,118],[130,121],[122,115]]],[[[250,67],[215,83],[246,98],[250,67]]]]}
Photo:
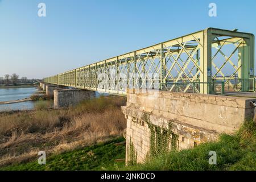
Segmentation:
{"type": "Polygon", "coordinates": [[[207,28],[43,81],[119,95],[126,95],[127,88],[254,92],[254,35],[207,28]]]}

